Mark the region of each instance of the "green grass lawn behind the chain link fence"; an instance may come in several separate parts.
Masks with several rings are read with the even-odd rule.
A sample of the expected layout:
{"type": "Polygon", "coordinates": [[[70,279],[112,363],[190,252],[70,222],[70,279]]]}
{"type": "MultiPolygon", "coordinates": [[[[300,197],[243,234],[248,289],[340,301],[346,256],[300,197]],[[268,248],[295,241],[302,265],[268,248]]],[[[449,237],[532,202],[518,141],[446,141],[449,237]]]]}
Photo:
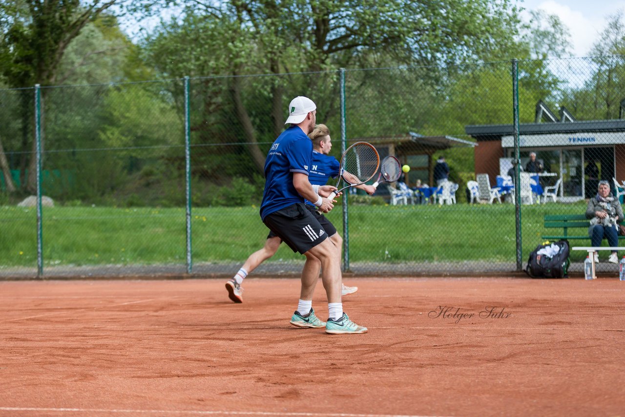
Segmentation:
{"type": "MultiPolygon", "coordinates": [[[[584,202],[522,206],[523,261],[547,232],[544,214],[585,210],[584,202]]],[[[341,208],[329,218],[343,235],[341,208]]],[[[184,208],[54,207],[43,208],[42,219],[44,265],[186,263],[184,208]]],[[[515,229],[512,204],[354,205],[349,206],[349,259],[514,262],[515,229]]],[[[192,209],[194,263],[244,261],[266,235],[257,207],[192,209]]],[[[0,266],[36,266],[36,241],[36,209],[0,207],[0,266]]],[[[577,255],[581,259],[571,254],[572,260],[579,260],[577,255]]],[[[301,255],[282,245],[274,259],[301,255]]]]}

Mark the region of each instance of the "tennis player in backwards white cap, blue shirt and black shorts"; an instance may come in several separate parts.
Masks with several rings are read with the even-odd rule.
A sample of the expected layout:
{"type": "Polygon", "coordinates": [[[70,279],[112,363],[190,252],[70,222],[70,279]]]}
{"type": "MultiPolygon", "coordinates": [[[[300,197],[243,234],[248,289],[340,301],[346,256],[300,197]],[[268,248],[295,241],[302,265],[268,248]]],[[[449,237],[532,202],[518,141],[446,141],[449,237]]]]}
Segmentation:
{"type": "Polygon", "coordinates": [[[367,328],[358,326],[342,311],[340,250],[327,239],[336,229],[330,228],[331,223],[324,216],[312,214],[313,210],[304,204],[304,199],[312,201],[323,213],[334,206],[327,196],[336,187],[312,186],[308,178],[312,142],[307,134],[314,129],[315,121],[316,105],[311,99],[300,96],[291,101],[285,123],[291,126],[274,141],[267,154],[261,219],[293,251],[306,256],[300,299],[290,323],[302,328],[325,327],[326,333],[331,334],[366,333],[367,328]],[[318,319],[312,309],[319,271],[328,301],[327,323],[318,319]]]}

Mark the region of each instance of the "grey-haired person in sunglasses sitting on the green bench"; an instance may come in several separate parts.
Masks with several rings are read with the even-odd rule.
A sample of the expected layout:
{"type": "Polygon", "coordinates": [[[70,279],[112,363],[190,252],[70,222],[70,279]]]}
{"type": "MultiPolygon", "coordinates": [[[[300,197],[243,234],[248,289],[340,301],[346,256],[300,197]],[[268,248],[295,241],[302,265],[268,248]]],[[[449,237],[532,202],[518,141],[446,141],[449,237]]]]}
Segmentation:
{"type": "MultiPolygon", "coordinates": [[[[607,239],[609,246],[618,246],[618,225],[623,219],[623,209],[617,198],[610,194],[610,183],[599,181],[597,195],[589,199],[586,208],[586,218],[591,219],[588,234],[592,246],[601,246],[603,238],[607,239]]],[[[595,263],[599,262],[599,256],[594,254],[595,263]]],[[[616,251],[610,254],[608,262],[618,263],[616,251]]]]}

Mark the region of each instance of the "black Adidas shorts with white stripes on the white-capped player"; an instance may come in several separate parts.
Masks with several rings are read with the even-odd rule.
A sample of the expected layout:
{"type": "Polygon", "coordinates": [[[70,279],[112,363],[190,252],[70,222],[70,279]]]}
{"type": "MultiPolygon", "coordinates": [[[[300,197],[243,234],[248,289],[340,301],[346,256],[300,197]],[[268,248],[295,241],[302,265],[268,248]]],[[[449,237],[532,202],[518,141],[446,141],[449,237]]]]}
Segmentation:
{"type": "MultiPolygon", "coordinates": [[[[336,228],[323,214],[317,214],[316,208],[304,203],[274,211],[263,222],[293,252],[302,254],[336,233],[336,228]]],[[[270,236],[271,233],[267,238],[270,236]]]]}

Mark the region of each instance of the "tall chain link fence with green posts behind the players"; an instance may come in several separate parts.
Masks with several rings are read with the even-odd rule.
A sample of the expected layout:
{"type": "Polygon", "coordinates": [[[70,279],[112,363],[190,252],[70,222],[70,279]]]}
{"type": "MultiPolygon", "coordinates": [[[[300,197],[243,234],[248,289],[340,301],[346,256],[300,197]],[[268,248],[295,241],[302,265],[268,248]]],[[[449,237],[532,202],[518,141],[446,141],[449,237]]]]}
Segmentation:
{"type": "MultiPolygon", "coordinates": [[[[297,95],[333,156],[366,140],[411,168],[328,214],[346,271],[516,271],[547,236],[590,244],[545,216],[584,214],[600,180],[622,202],[624,83],[610,56],[0,90],[0,277],[234,274],[266,239],[262,167],[297,95]]],[[[281,245],[254,274],[303,261],[281,245]]]]}

